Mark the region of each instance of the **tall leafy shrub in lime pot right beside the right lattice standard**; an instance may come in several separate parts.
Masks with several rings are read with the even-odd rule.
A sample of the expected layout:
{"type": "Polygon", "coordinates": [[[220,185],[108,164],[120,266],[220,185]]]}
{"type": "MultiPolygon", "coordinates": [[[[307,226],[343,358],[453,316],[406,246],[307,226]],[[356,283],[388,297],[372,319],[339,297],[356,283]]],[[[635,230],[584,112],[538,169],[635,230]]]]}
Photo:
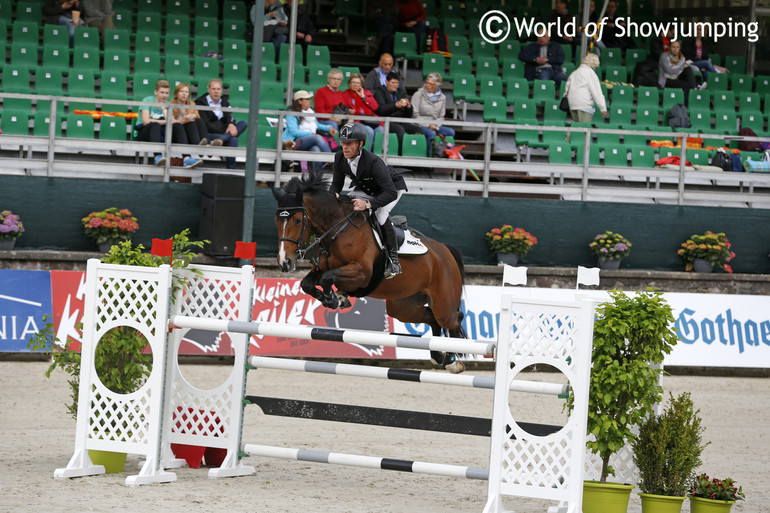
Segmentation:
{"type": "Polygon", "coordinates": [[[592,436],[587,445],[602,465],[599,481],[584,483],[584,513],[607,511],[599,508],[610,503],[614,511],[628,509],[633,486],[607,482],[614,475],[610,457],[633,441],[634,426],[660,402],[663,371],[650,364],[660,364],[677,341],[671,306],[661,292],[647,289],[629,297],[613,290],[610,297],[597,308],[594,323],[586,429],[592,436]]]}

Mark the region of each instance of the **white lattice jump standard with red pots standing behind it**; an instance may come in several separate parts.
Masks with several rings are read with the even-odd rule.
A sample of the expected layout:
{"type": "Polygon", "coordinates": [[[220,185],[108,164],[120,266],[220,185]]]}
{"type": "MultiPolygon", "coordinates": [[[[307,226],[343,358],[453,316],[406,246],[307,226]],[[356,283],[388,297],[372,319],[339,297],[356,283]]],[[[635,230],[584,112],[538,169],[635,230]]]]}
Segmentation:
{"type": "MultiPolygon", "coordinates": [[[[254,268],[191,266],[197,272],[185,271],[184,288],[177,291],[171,308],[174,315],[228,321],[251,320],[251,291],[254,268]]],[[[253,474],[254,467],[245,466],[239,457],[242,398],[246,387],[246,358],[249,337],[243,333],[227,333],[235,356],[227,379],[210,390],[199,389],[188,382],[179,368],[179,345],[189,329],[175,329],[169,335],[172,378],[166,404],[164,445],[170,443],[215,447],[227,450],[224,462],[209,470],[209,477],[231,477],[253,474]]],[[[222,338],[219,335],[218,340],[222,338]]],[[[167,458],[170,451],[166,447],[167,458]]],[[[167,460],[168,466],[177,465],[167,460]]]]}

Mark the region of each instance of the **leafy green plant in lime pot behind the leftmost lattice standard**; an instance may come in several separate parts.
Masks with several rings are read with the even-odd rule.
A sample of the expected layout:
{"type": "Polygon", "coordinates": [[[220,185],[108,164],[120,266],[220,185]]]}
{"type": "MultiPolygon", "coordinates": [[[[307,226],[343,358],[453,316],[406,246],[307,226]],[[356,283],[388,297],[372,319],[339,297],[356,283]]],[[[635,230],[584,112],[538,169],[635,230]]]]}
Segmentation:
{"type": "MultiPolygon", "coordinates": [[[[202,248],[204,241],[190,241],[189,229],[173,237],[173,268],[185,268],[192,261],[195,253],[191,248],[202,248]]],[[[152,256],[144,253],[141,244],[132,246],[131,241],[124,241],[112,246],[109,253],[102,261],[109,264],[141,265],[158,267],[168,263],[167,257],[152,256]]],[[[174,286],[183,284],[181,278],[174,276],[174,286]]],[[[130,299],[127,299],[129,301],[130,299]]],[[[56,337],[53,323],[46,323],[27,342],[31,351],[43,351],[51,354],[51,365],[46,370],[46,377],[58,367],[70,375],[70,402],[67,410],[73,418],[77,418],[78,395],[80,391],[80,343],[73,340],[61,341],[56,337]]],[[[152,355],[145,352],[147,339],[139,331],[129,326],[118,326],[102,336],[99,340],[95,354],[94,367],[102,384],[120,394],[127,394],[137,390],[144,384],[152,371],[152,355]]],[[[125,426],[124,426],[125,427],[125,426]]],[[[111,453],[107,451],[89,450],[91,461],[97,465],[104,465],[107,472],[122,472],[126,461],[126,454],[111,453]]]]}

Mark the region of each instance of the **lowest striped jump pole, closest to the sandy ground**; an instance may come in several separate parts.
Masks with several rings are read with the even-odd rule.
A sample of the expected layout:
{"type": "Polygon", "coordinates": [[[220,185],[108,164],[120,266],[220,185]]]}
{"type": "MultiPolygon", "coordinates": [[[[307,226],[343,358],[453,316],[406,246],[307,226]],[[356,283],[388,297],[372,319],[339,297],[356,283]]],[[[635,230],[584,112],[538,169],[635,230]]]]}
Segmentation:
{"type": "Polygon", "coordinates": [[[268,458],[280,458],[284,460],[330,463],[334,465],[347,465],[352,467],[395,470],[399,472],[413,472],[415,474],[430,474],[434,476],[480,479],[483,481],[489,479],[488,469],[478,467],[463,467],[460,465],[447,465],[443,463],[425,463],[422,461],[397,460],[391,458],[378,458],[375,456],[359,456],[356,454],[311,451],[305,449],[290,449],[285,447],[273,447],[269,445],[255,444],[245,444],[243,446],[243,452],[250,456],[264,456],[268,458]]]}

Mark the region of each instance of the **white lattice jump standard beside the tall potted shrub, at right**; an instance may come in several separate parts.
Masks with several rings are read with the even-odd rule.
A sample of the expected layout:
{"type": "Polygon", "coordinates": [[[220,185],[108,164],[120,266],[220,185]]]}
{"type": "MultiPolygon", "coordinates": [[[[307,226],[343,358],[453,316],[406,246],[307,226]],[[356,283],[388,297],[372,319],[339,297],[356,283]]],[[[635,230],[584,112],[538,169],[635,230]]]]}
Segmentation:
{"type": "Polygon", "coordinates": [[[593,303],[517,300],[504,294],[500,326],[484,511],[502,513],[503,497],[519,496],[560,501],[563,511],[578,512],[583,497],[593,303]],[[510,384],[532,365],[557,368],[569,380],[574,395],[566,424],[547,436],[522,429],[511,411],[510,384]]]}

